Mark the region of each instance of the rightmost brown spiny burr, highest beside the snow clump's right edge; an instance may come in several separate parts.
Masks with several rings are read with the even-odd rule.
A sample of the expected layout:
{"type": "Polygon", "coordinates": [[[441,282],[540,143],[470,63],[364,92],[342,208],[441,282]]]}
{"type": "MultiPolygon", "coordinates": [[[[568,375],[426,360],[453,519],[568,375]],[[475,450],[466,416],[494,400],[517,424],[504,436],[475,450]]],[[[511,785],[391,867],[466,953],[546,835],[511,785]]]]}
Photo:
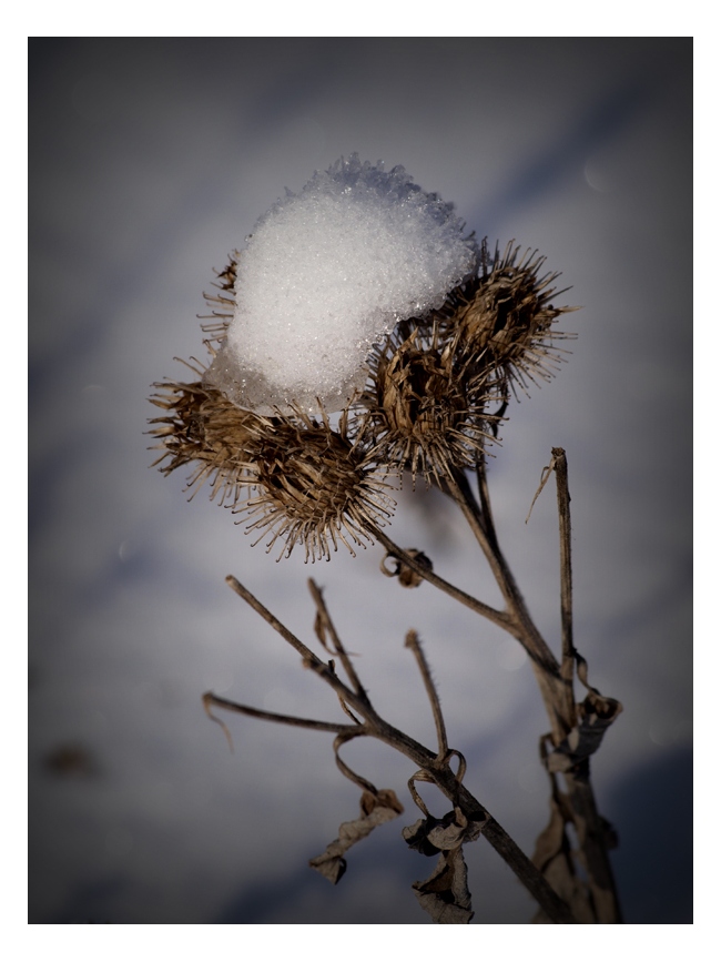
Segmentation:
{"type": "Polygon", "coordinates": [[[557,342],[575,336],[551,331],[557,317],[577,310],[550,303],[563,293],[551,287],[559,274],[540,276],[546,259],[530,250],[519,259],[519,252],[512,241],[502,256],[496,250],[488,273],[481,251],[481,275],[451,292],[439,312],[460,354],[492,371],[489,387],[504,399],[517,385],[527,392],[528,381],[550,381],[566,353],[557,342]]]}

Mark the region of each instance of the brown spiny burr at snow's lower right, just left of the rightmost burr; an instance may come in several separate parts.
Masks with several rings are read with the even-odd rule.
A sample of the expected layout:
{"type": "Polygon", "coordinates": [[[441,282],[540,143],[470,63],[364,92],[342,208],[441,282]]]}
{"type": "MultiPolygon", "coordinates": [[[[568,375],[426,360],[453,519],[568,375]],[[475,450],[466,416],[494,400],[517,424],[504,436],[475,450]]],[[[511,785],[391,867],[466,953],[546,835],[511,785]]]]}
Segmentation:
{"type": "Polygon", "coordinates": [[[407,327],[390,335],[369,361],[358,402],[359,438],[379,464],[440,484],[453,468],[477,463],[490,438],[485,375],[458,362],[454,340],[437,326],[429,337],[407,327]]]}

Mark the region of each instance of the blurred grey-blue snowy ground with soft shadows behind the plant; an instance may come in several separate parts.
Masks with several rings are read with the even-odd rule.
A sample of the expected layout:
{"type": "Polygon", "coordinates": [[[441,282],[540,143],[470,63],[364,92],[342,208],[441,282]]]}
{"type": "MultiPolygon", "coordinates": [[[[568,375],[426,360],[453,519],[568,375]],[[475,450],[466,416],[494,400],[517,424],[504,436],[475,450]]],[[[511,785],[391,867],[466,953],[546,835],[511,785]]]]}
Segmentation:
{"type": "MultiPolygon", "coordinates": [[[[231,573],[309,642],[315,577],[376,707],[431,742],[417,628],[469,788],[529,852],[546,823],[547,723],[514,642],[383,578],[379,547],[277,565],[148,467],[150,385],[204,357],[212,269],[353,151],[403,164],[479,237],[538,247],[583,305],[569,364],[510,407],[491,496],[556,646],[550,487],[524,519],[567,449],[576,640],[624,705],[593,781],[626,919],[691,921],[691,41],[32,40],[30,68],[30,921],[428,923],[409,885],[433,862],[399,837],[409,763],[346,748],[406,813],[333,888],[307,860],[358,791],[331,737],[230,717],[231,755],[203,715],[213,689],[343,718],[231,573]]],[[[404,494],[390,534],[497,601],[438,497],[404,494]]],[[[483,840],[467,860],[475,922],[530,918],[483,840]]]]}

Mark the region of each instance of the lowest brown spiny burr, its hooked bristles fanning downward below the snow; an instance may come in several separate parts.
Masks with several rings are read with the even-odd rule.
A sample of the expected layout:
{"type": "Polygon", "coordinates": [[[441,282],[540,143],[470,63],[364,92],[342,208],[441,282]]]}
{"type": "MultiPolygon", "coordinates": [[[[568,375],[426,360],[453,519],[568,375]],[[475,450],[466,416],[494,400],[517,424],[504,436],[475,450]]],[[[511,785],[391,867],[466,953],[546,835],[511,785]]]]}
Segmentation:
{"type": "Polygon", "coordinates": [[[298,544],[306,561],[329,560],[338,543],[355,557],[353,546],[373,543],[370,531],[393,514],[389,485],[348,438],[347,412],[337,431],[325,413],[321,422],[299,408],[278,415],[257,432],[253,453],[257,495],[245,506],[255,518],[246,531],[261,533],[254,545],[270,535],[267,551],[284,540],[277,560],[298,544]]]}

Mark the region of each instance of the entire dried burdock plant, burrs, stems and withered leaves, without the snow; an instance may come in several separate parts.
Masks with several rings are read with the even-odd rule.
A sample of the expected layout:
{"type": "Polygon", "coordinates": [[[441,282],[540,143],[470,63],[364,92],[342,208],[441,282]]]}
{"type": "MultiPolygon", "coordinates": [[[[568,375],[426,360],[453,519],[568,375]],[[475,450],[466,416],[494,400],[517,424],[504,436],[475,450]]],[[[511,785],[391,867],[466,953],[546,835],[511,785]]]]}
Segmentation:
{"type": "MultiPolygon", "coordinates": [[[[560,530],[560,657],[534,624],[498,543],[487,484],[488,448],[496,444],[498,422],[517,388],[550,377],[572,336],[554,327],[569,307],[551,304],[556,274],[540,275],[544,259],[536,252],[519,256],[509,244],[488,256],[484,243],[478,270],[454,288],[439,308],[398,323],[377,344],[367,362],[360,394],[348,398],[332,418],[318,401],[311,412],[297,404],[262,415],[235,406],[205,377],[197,361],[192,383],[162,382],[151,398],[163,416],[151,422],[162,450],[156,464],[170,474],[194,465],[193,493],[210,480],[211,497],[245,520],[256,543],[266,549],[281,543],[280,557],[295,547],[305,559],[328,559],[339,544],[355,554],[378,541],[385,548],[380,570],[402,586],[427,581],[479,616],[504,628],[528,654],[549,719],[540,738],[541,762],[548,773],[551,817],[528,858],[464,783],[466,761],[449,747],[440,703],[415,630],[406,647],[422,676],[436,727],[437,746],[420,745],[395,728],[374,708],[351,655],[331,618],[317,585],[309,580],[316,607],[318,657],[265,608],[236,578],[231,588],[271,625],[338,697],[346,721],[323,721],[264,711],[203,696],[207,713],[230,731],[213,710],[223,709],[283,725],[335,735],[334,752],[342,773],[362,790],[360,814],[344,822],[338,838],[311,865],[337,883],[345,855],[376,826],[403,812],[392,789],[378,789],[353,771],[341,749],[355,738],[375,738],[408,758],[417,771],[408,787],[422,817],[403,837],[426,855],[437,857],[428,879],[414,884],[420,905],[439,923],[467,923],[473,917],[464,845],[483,836],[510,865],[538,903],[535,921],[613,923],[621,921],[608,850],[613,832],[599,814],[590,781],[590,756],[621,706],[589,685],[588,667],[573,644],[568,469],[561,448],[554,448],[541,488],[556,477],[560,530]],[[500,406],[500,407],[499,407],[500,406]],[[496,609],[444,580],[419,549],[403,549],[385,525],[395,503],[389,479],[404,470],[436,486],[461,510],[500,588],[504,607],[496,609]],[[475,478],[475,483],[474,483],[475,478]],[[475,490],[474,490],[475,488],[475,490]],[[585,690],[576,701],[575,682],[585,690]],[[448,799],[449,811],[433,816],[419,787],[434,783],[448,799]],[[573,830],[576,847],[569,830],[573,830]]],[[[211,358],[216,356],[234,307],[235,254],[217,275],[220,294],[207,296],[204,318],[211,358]]],[[[540,489],[536,496],[540,493],[540,489]]]]}

